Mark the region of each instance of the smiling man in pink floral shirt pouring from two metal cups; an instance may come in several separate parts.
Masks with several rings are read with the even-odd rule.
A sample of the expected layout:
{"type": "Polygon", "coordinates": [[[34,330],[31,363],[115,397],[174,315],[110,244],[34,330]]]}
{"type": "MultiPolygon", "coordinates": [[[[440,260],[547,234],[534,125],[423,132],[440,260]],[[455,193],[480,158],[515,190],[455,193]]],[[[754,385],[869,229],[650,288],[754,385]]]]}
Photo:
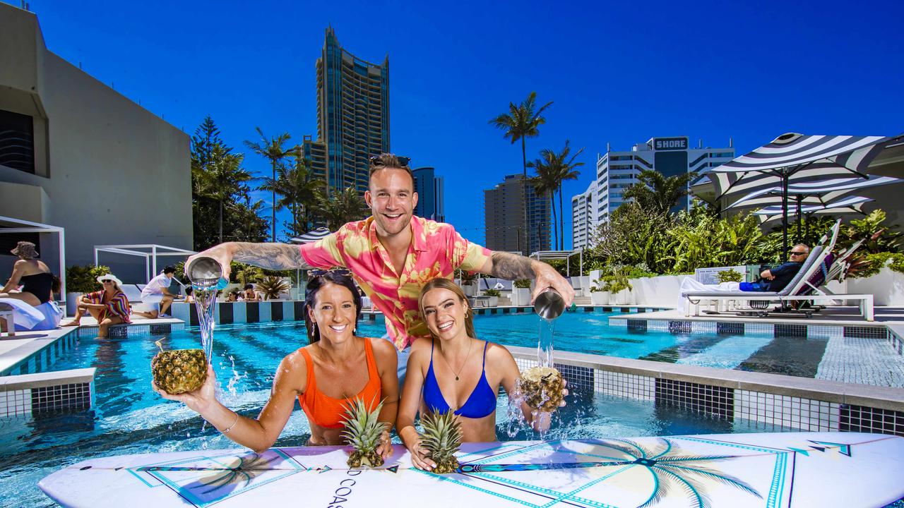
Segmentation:
{"type": "Polygon", "coordinates": [[[410,343],[429,335],[418,313],[420,288],[434,278],[452,278],[456,268],[507,280],[535,279],[533,297],[552,287],[565,298],[566,306],[571,304],[574,290],[550,265],[493,252],[465,240],[451,224],[414,216],[418,193],[408,157],[376,155],[371,157],[370,169],[369,189],[364,193],[372,212],[368,219],[349,222],[315,243],[228,242],[197,256],[217,259],[225,270],[233,259],[280,270],[348,268],[385,317],[386,338],[400,351],[400,373],[407,364],[410,343]]]}

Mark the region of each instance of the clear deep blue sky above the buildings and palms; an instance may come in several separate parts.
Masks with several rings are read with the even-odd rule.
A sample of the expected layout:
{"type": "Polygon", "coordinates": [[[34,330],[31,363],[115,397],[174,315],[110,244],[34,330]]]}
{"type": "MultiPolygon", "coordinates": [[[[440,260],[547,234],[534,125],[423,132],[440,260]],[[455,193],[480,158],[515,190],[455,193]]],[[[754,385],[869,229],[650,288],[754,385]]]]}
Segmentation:
{"type": "MultiPolygon", "coordinates": [[[[731,137],[740,155],[788,131],[904,131],[900,2],[30,4],[52,52],[189,134],[212,115],[240,150],[256,126],[316,134],[327,25],[365,60],[388,53],[392,151],[437,168],[447,221],[479,242],[483,190],[522,170],[487,121],[532,90],[554,103],[528,158],[586,148],[566,211],[607,143],[731,137]]],[[[246,167],[269,172],[252,154],[246,167]]]]}

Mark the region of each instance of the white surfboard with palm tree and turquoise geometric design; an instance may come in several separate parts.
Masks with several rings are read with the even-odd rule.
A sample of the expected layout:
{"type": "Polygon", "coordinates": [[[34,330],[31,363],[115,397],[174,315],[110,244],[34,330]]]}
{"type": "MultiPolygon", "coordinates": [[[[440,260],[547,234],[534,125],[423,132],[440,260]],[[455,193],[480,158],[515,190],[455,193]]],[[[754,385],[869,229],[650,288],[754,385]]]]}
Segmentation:
{"type": "Polygon", "coordinates": [[[63,506],[884,506],[904,497],[904,437],[801,432],[467,443],[456,473],[349,468],[347,447],[109,456],[48,475],[63,506]]]}

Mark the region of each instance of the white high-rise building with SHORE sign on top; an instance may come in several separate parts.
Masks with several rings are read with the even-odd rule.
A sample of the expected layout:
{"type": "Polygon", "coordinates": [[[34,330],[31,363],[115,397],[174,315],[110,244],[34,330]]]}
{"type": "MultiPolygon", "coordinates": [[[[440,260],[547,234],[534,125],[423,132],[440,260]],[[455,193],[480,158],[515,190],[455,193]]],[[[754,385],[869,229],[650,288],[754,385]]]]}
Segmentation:
{"type": "MultiPolygon", "coordinates": [[[[637,176],[642,170],[653,169],[665,176],[696,171],[702,176],[735,156],[730,141],[725,148],[704,148],[702,145],[701,141],[698,147],[689,147],[687,137],[652,137],[646,143],[636,144],[630,151],[613,152],[607,149],[605,154],[598,155],[596,212],[590,222],[591,226],[596,227],[600,222],[606,221],[609,213],[626,202],[622,194],[627,187],[638,183],[637,176]]],[[[688,195],[684,202],[676,205],[676,209],[688,208],[691,199],[688,195]]],[[[573,203],[574,198],[572,221],[575,211],[573,203]]]]}

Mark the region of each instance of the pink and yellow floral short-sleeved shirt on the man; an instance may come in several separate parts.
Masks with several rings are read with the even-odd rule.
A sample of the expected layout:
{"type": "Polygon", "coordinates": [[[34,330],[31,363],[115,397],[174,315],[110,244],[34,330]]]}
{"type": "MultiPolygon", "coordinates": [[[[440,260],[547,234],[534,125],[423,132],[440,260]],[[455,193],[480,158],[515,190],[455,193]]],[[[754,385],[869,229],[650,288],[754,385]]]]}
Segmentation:
{"type": "Polygon", "coordinates": [[[490,250],[465,240],[451,224],[411,217],[411,246],[402,273],[377,240],[373,218],[349,222],[333,234],[301,245],[301,255],[316,268],[344,267],[386,318],[386,331],[399,351],[429,335],[418,312],[420,288],[434,278],[452,278],[456,268],[476,271],[490,250]]]}

